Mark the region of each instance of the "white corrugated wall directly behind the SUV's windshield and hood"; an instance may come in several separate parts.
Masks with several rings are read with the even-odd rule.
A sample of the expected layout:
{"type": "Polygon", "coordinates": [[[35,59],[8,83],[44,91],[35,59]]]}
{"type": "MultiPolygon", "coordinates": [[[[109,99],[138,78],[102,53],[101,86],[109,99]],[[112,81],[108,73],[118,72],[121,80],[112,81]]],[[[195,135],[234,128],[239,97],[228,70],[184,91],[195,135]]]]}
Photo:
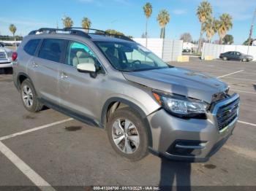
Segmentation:
{"type": "MultiPolygon", "coordinates": [[[[146,47],[146,39],[134,38],[135,42],[146,47]]],[[[172,39],[148,39],[148,50],[154,52],[159,58],[162,58],[165,62],[177,61],[179,55],[182,55],[181,40],[172,39]]]]}

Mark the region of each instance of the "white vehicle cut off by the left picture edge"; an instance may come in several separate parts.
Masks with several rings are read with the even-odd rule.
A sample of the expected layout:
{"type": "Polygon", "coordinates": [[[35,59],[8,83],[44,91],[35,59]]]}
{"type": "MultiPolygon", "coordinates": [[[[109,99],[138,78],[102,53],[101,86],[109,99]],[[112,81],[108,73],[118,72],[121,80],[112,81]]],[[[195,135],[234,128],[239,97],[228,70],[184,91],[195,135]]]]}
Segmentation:
{"type": "Polygon", "coordinates": [[[12,50],[4,47],[0,42],[0,69],[4,69],[6,74],[12,73],[12,50]]]}

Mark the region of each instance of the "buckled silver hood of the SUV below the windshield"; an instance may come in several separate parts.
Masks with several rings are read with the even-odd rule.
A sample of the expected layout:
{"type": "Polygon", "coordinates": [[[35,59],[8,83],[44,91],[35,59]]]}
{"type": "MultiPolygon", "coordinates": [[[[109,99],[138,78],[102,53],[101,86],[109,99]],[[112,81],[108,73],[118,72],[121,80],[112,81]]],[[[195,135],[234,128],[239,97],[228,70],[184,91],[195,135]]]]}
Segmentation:
{"type": "Polygon", "coordinates": [[[197,71],[180,68],[124,72],[124,77],[140,85],[146,85],[167,93],[176,93],[211,103],[215,93],[224,92],[227,84],[217,78],[197,71]]]}

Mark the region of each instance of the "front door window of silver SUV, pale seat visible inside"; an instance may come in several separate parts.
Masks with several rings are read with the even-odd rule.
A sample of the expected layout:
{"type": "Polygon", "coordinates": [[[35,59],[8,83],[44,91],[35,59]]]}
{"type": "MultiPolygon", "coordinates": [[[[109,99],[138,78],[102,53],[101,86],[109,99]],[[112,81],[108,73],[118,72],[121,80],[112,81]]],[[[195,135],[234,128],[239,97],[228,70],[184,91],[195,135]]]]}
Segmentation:
{"type": "Polygon", "coordinates": [[[79,63],[94,63],[99,65],[94,52],[89,47],[79,42],[69,42],[65,64],[76,67],[79,63]]]}

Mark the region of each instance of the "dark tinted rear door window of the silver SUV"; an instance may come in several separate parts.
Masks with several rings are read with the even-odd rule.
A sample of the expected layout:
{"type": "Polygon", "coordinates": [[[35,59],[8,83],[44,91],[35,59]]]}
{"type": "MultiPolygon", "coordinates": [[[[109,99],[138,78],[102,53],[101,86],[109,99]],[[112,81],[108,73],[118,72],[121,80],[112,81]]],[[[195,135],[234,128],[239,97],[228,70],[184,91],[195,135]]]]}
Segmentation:
{"type": "Polygon", "coordinates": [[[60,62],[65,45],[66,40],[63,39],[44,39],[38,57],[48,61],[60,62]]]}

